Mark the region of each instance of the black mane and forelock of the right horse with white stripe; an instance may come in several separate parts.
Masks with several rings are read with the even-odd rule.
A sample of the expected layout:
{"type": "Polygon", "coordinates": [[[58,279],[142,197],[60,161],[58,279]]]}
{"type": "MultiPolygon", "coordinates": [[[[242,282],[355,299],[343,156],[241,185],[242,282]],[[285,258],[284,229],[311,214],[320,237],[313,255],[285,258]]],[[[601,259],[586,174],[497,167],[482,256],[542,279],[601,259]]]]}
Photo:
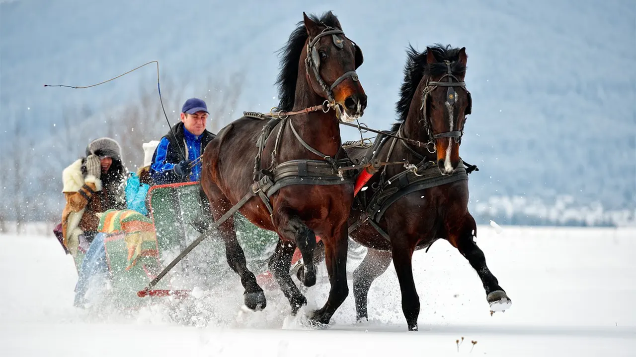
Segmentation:
{"type": "Polygon", "coordinates": [[[406,50],[406,65],[404,66],[404,81],[400,87],[400,98],[396,103],[397,121],[393,124],[391,130],[397,131],[399,126],[406,121],[408,111],[411,107],[411,102],[415,96],[417,86],[422,81],[424,76],[439,76],[446,73],[446,64],[444,60],[449,60],[451,65],[450,69],[455,76],[464,76],[466,74],[466,65],[459,63],[459,50],[460,48],[452,48],[450,44],[443,46],[436,43],[434,46],[429,46],[432,51],[436,63],[427,65],[426,55],[427,50],[418,52],[408,45],[406,50]]]}

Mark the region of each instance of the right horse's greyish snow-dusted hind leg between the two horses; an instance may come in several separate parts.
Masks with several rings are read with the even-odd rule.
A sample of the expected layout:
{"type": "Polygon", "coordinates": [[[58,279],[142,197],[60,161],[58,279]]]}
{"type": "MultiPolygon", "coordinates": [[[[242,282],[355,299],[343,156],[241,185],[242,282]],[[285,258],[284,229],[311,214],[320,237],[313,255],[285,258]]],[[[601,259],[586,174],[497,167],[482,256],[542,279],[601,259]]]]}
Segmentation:
{"type": "Polygon", "coordinates": [[[363,261],[354,271],[354,297],[356,299],[356,318],[368,320],[366,299],[371,283],[384,274],[391,264],[391,251],[367,248],[363,261]]]}

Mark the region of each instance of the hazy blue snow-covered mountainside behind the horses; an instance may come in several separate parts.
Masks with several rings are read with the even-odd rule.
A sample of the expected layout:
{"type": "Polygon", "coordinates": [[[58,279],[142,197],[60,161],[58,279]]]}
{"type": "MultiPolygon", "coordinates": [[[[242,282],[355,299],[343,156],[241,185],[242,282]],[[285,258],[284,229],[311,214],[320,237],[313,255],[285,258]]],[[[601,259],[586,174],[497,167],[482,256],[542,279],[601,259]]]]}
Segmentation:
{"type": "MultiPolygon", "coordinates": [[[[84,108],[76,124],[93,125],[100,113],[139,100],[140,86],[156,91],[156,74],[147,66],[86,90],[43,84],[84,86],[151,60],[173,79],[162,93],[184,100],[205,78],[240,71],[244,89],[233,117],[269,111],[277,104],[275,51],[303,11],[327,10],[363,50],[363,122],[373,128],[394,121],[408,44],[466,47],[473,114],[461,154],[480,167],[470,177],[471,204],[565,194],[581,205],[636,208],[636,4],[628,0],[1,1],[1,166],[11,170],[6,153],[24,144],[17,126],[45,160],[51,147],[68,145],[53,126],[65,109],[84,108]]],[[[66,152],[67,161],[101,135],[74,144],[78,152],[66,152]]],[[[343,129],[345,140],[356,135],[343,129]]],[[[31,181],[37,160],[26,171],[31,181]]],[[[60,163],[53,175],[61,171],[60,163]]],[[[10,177],[2,186],[10,187],[10,177]]],[[[59,201],[59,178],[52,180],[39,198],[59,201]]]]}

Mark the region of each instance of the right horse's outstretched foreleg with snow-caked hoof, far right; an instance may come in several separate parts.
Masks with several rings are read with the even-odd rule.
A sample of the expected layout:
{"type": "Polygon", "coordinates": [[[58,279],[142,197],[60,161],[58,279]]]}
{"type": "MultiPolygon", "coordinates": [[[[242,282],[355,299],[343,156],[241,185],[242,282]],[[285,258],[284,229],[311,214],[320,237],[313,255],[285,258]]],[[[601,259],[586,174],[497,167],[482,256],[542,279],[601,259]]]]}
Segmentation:
{"type": "Polygon", "coordinates": [[[512,301],[506,295],[505,290],[499,286],[499,281],[494,274],[490,272],[486,265],[486,257],[474,241],[474,232],[476,226],[473,217],[467,218],[466,224],[462,227],[462,231],[457,235],[457,250],[464,255],[473,269],[477,272],[486,291],[486,299],[490,304],[490,311],[504,311],[511,306],[512,301]]]}

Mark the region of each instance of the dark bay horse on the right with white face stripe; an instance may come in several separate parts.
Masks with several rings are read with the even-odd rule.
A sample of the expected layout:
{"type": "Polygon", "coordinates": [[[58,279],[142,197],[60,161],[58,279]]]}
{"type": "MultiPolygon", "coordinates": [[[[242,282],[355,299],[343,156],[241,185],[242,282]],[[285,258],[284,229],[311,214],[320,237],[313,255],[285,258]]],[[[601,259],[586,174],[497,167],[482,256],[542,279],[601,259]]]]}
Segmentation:
{"type": "MultiPolygon", "coordinates": [[[[467,165],[459,156],[466,115],[472,108],[464,83],[466,62],[465,48],[436,45],[418,53],[410,47],[401,98],[396,104],[399,119],[390,131],[378,135],[371,147],[347,149],[359,165],[375,162],[371,172],[363,170],[357,179],[349,217],[350,236],[368,248],[354,271],[358,320],[368,318],[371,283],[392,260],[408,329],[417,330],[420,300],[411,257],[415,250],[429,248],[437,239],[446,239],[476,270],[491,311],[503,311],[511,304],[473,240],[477,227],[468,212],[467,174],[476,166],[467,165]],[[425,144],[410,145],[396,137],[425,144]],[[400,161],[408,163],[377,165],[400,161]]],[[[314,264],[321,260],[320,253],[314,255],[314,264]]],[[[303,269],[298,268],[298,273],[303,269]]]]}

